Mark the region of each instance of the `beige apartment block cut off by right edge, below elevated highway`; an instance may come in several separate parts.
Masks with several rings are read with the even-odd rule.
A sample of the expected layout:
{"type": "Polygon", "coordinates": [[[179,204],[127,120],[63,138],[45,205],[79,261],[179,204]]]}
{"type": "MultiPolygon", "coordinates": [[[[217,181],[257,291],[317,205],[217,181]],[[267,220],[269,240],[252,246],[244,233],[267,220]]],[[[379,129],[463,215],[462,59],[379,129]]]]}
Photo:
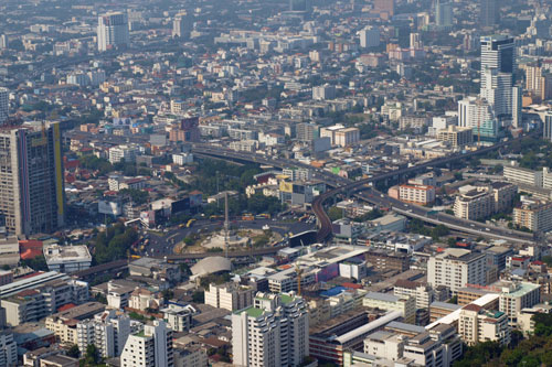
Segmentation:
{"type": "Polygon", "coordinates": [[[532,231],[552,230],[552,203],[523,201],[513,208],[513,224],[532,231]]]}

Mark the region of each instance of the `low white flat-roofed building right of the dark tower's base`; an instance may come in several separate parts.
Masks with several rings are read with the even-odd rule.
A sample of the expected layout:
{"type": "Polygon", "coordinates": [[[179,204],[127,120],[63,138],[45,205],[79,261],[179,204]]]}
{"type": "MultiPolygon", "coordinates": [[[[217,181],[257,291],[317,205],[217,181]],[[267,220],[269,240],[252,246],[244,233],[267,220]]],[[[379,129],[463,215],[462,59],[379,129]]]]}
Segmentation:
{"type": "Polygon", "coordinates": [[[50,271],[71,273],[86,270],[92,263],[92,255],[86,245],[49,245],[43,247],[43,251],[50,271]]]}

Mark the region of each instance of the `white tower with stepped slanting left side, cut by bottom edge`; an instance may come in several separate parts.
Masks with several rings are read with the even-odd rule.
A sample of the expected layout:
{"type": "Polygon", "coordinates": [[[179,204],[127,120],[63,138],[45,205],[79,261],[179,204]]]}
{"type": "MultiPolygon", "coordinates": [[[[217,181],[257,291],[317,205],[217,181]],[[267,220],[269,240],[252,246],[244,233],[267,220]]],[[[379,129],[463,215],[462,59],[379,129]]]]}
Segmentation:
{"type": "Polygon", "coordinates": [[[144,331],[128,336],[123,354],[121,367],[172,367],[172,330],[164,321],[156,320],[145,325],[144,331]]]}

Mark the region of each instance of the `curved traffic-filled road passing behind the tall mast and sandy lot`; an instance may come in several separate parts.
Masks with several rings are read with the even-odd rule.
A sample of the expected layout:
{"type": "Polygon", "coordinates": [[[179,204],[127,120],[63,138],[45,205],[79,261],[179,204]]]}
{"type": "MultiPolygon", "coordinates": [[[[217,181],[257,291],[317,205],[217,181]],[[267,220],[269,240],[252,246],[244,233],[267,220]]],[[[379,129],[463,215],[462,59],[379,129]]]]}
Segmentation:
{"type": "MultiPolygon", "coordinates": [[[[272,220],[272,219],[255,219],[251,220],[233,220],[231,223],[232,226],[237,226],[240,229],[262,229],[264,225],[268,225],[270,229],[275,233],[278,233],[283,237],[288,234],[298,234],[305,230],[314,229],[314,224],[307,223],[286,223],[282,220],[272,220]]],[[[198,220],[193,224],[191,228],[178,228],[169,230],[168,233],[160,233],[160,235],[156,234],[156,231],[150,231],[148,234],[149,245],[145,249],[145,251],[149,256],[169,256],[173,253],[173,248],[176,244],[182,241],[185,237],[189,237],[193,234],[198,234],[200,230],[202,231],[212,231],[216,228],[222,228],[223,223],[211,222],[211,220],[198,220]]],[[[142,253],[146,255],[146,253],[142,253]]]]}

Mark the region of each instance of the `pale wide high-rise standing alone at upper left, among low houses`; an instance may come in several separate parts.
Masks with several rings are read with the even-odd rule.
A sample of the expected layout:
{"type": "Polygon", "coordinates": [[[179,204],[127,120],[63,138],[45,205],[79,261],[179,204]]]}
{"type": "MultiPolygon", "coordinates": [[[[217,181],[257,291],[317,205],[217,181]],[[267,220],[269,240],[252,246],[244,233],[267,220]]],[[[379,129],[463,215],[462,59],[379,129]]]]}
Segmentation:
{"type": "Polygon", "coordinates": [[[126,47],[129,43],[128,18],[126,13],[113,12],[98,17],[98,51],[126,47]]]}

